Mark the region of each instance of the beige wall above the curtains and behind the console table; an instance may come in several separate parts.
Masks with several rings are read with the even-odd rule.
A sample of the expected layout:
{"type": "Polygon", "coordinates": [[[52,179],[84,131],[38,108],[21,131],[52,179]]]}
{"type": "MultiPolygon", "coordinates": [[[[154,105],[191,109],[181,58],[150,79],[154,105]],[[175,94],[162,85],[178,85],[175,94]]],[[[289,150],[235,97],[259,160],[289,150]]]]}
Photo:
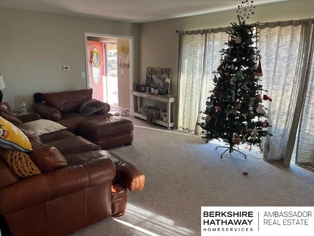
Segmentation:
{"type": "MultiPolygon", "coordinates": [[[[237,3],[235,3],[237,4],[237,3]]],[[[258,5],[247,23],[314,18],[314,0],[289,0],[258,5]]],[[[147,67],[173,69],[172,94],[178,85],[178,30],[230,26],[236,22],[235,10],[140,24],[140,83],[145,84],[147,67]]],[[[261,52],[262,53],[262,52],[261,52]]]]}

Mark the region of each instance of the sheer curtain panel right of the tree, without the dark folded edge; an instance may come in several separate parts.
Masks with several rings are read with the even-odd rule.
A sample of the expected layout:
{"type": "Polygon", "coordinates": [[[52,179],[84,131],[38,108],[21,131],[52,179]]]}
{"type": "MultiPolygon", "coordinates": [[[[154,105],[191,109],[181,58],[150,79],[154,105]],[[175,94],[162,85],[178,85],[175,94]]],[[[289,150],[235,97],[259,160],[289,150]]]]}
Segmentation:
{"type": "Polygon", "coordinates": [[[268,90],[272,102],[266,102],[268,130],[272,137],[264,141],[264,159],[285,157],[297,104],[300,78],[296,78],[301,26],[260,29],[258,47],[262,55],[260,84],[268,90]]]}

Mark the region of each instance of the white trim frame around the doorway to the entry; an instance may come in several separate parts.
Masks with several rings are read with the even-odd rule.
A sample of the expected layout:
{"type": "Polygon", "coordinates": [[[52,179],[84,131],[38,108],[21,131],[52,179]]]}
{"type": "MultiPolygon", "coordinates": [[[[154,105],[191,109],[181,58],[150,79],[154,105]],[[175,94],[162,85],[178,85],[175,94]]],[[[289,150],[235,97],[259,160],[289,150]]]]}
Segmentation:
{"type": "MultiPolygon", "coordinates": [[[[86,89],[89,89],[89,73],[88,73],[88,51],[87,51],[87,37],[94,36],[94,37],[108,37],[108,38],[127,38],[130,40],[130,115],[132,115],[133,111],[133,103],[132,103],[132,95],[131,90],[133,88],[134,83],[134,36],[129,35],[116,35],[116,34],[105,34],[105,33],[89,33],[84,32],[84,48],[85,48],[85,75],[86,75],[86,89]]],[[[119,62],[118,62],[119,63],[119,62]]],[[[119,104],[119,71],[118,71],[118,106],[119,104]]]]}

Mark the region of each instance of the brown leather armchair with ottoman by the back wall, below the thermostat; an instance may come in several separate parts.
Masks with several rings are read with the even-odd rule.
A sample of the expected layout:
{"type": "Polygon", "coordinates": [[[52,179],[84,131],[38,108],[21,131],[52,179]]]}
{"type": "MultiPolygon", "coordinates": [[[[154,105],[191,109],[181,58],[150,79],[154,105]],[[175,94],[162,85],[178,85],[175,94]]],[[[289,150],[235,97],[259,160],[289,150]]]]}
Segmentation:
{"type": "Polygon", "coordinates": [[[41,99],[41,103],[34,104],[34,110],[42,118],[66,126],[70,132],[84,137],[103,149],[129,145],[133,142],[132,121],[111,118],[113,115],[108,113],[109,104],[106,103],[105,108],[97,114],[83,116],[78,113],[78,107],[92,99],[92,89],[41,93],[41,99]]]}

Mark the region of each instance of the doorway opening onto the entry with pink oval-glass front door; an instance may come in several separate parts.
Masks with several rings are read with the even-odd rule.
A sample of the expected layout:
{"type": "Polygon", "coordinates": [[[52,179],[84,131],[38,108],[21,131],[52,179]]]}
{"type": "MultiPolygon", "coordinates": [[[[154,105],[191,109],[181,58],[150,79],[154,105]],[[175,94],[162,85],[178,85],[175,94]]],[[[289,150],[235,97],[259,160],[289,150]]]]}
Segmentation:
{"type": "Polygon", "coordinates": [[[84,33],[86,86],[93,99],[131,111],[133,36],[84,33]]]}

